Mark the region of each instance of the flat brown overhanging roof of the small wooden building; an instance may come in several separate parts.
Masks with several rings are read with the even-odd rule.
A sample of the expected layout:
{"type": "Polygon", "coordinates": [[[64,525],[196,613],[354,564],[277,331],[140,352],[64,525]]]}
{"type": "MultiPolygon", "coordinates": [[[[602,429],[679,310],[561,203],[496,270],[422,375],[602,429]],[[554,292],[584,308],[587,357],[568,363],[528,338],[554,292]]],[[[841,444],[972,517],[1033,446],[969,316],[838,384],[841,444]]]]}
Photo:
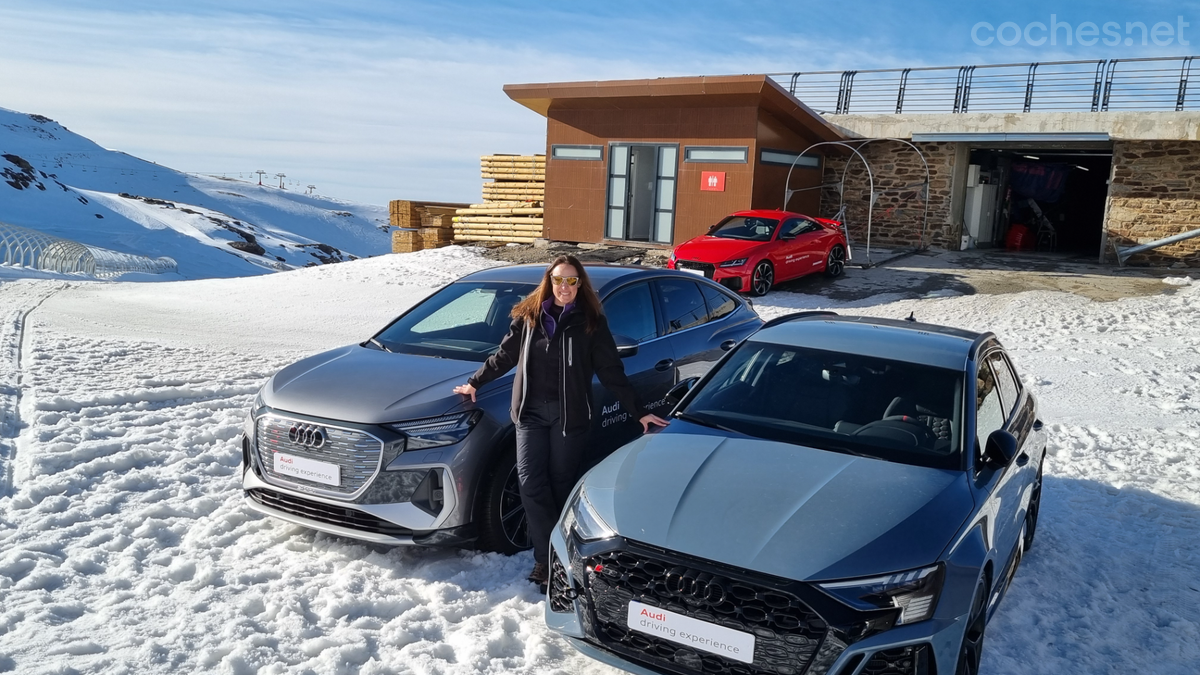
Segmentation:
{"type": "Polygon", "coordinates": [[[504,92],[542,117],[550,117],[554,109],[756,106],[802,136],[816,141],[848,138],[764,74],[505,84],[504,92]]]}

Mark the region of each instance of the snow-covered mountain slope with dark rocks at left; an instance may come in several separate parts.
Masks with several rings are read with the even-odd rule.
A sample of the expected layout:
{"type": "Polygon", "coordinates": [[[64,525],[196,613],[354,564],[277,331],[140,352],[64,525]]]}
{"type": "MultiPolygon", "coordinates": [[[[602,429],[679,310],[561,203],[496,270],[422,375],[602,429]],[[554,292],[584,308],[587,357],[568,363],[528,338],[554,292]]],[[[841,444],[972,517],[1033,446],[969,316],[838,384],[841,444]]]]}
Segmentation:
{"type": "Polygon", "coordinates": [[[244,276],[390,251],[386,207],[185,174],[0,108],[0,222],[244,276]]]}

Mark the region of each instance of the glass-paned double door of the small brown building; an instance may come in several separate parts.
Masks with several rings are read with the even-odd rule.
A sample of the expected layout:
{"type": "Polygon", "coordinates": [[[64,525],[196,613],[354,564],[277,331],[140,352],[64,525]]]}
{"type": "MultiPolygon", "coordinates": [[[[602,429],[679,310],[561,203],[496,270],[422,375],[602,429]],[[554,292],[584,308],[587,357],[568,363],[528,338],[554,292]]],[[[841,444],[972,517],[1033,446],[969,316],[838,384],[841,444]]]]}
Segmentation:
{"type": "Polygon", "coordinates": [[[605,238],[671,244],[677,145],[613,143],[605,238]]]}

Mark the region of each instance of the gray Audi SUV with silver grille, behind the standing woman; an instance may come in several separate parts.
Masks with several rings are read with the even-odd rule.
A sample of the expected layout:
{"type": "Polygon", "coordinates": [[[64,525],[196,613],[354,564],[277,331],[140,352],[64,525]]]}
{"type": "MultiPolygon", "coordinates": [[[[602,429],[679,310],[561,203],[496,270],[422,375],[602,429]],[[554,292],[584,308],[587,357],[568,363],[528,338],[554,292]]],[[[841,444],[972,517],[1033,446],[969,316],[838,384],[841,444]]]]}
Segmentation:
{"type": "MultiPolygon", "coordinates": [[[[383,544],[530,545],[517,490],[512,374],[452,393],[499,346],[509,312],[545,265],[467,275],[368,340],[275,374],[250,411],[242,488],[250,508],[383,544]]],[[[625,372],[644,405],[702,375],[762,321],[726,288],[664,269],[588,265],[625,372]]],[[[641,425],[594,384],[586,466],[641,425]]]]}

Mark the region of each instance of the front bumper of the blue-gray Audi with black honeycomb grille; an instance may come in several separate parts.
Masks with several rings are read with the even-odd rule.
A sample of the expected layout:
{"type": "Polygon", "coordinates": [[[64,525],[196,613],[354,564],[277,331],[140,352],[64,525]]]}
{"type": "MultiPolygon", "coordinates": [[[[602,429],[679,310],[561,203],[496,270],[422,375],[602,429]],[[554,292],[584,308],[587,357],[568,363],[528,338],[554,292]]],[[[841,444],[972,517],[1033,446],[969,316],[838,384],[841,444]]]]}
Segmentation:
{"type": "MultiPolygon", "coordinates": [[[[593,560],[598,552],[606,548],[617,550],[628,545],[637,544],[617,537],[613,540],[586,545],[574,540],[574,538],[568,542],[558,528],[551,536],[552,566],[546,603],[546,625],[565,637],[580,652],[608,665],[647,675],[652,673],[679,675],[685,673],[773,675],[857,675],[860,673],[870,673],[871,675],[936,675],[941,673],[947,675],[954,673],[966,625],[965,616],[953,619],[935,616],[920,623],[856,637],[856,626],[860,625],[860,620],[877,617],[876,613],[853,610],[812,587],[809,587],[811,592],[804,592],[803,589],[806,585],[787,584],[786,580],[779,580],[784,583],[779,587],[790,587],[792,591],[799,590],[804,593],[803,599],[812,602],[816,616],[816,621],[811,625],[799,627],[796,631],[784,631],[778,627],[772,629],[767,625],[756,625],[746,631],[745,625],[739,626],[738,621],[730,621],[732,615],[706,615],[702,608],[697,610],[696,607],[685,603],[658,603],[659,607],[665,607],[671,611],[752,632],[756,644],[754,663],[751,664],[680,647],[677,643],[646,639],[644,634],[628,631],[626,626],[614,627],[611,622],[604,621],[601,615],[606,610],[598,608],[593,584],[589,580],[595,577],[595,573],[581,566],[581,561],[593,560]],[[605,631],[607,634],[602,633],[605,631]],[[632,637],[634,640],[630,641],[629,637],[632,637]],[[814,641],[814,637],[816,637],[816,641],[814,641]],[[614,640],[614,638],[617,639],[614,640]]],[[[656,550],[666,556],[678,556],[678,554],[653,548],[642,548],[641,550],[656,550]]],[[[686,558],[679,558],[679,561],[688,567],[714,569],[706,567],[703,561],[686,558]]],[[[719,572],[730,573],[731,577],[740,575],[740,579],[752,578],[744,575],[749,574],[746,571],[726,569],[719,572]]],[[[761,579],[767,579],[768,584],[772,583],[768,578],[761,579]]],[[[768,590],[764,595],[770,595],[770,592],[768,590]]],[[[632,599],[655,604],[654,596],[653,592],[637,592],[636,595],[630,592],[618,599],[624,602],[626,607],[628,602],[632,599]]],[[[608,619],[613,616],[611,608],[607,610],[607,616],[608,619]]],[[[740,613],[737,619],[742,619],[740,613]]]]}

